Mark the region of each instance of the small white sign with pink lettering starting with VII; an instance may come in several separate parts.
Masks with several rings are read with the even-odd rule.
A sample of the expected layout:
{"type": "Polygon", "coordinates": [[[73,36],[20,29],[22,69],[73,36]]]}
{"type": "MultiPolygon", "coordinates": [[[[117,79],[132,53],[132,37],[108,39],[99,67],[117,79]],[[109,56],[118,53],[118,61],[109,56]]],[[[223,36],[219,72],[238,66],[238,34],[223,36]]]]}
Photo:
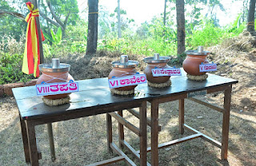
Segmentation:
{"type": "Polygon", "coordinates": [[[156,68],[152,69],[153,77],[160,77],[160,76],[181,76],[182,72],[181,69],[178,68],[156,68]]]}

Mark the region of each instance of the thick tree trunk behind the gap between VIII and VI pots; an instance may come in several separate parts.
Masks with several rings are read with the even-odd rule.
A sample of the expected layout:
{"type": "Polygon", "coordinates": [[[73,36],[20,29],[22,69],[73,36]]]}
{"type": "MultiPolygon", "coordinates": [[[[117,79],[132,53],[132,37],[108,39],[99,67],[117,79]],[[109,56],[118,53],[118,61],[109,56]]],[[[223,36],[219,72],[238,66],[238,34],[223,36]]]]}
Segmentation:
{"type": "Polygon", "coordinates": [[[88,33],[86,54],[96,53],[98,41],[98,0],[88,0],[88,33]]]}

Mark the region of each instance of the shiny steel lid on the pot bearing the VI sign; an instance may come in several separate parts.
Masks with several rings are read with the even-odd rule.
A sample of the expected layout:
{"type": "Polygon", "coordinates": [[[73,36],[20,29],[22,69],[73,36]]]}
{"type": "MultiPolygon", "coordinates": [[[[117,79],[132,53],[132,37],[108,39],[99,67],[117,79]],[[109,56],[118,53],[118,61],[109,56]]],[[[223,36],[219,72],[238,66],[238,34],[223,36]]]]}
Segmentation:
{"type": "Polygon", "coordinates": [[[120,61],[113,61],[112,66],[115,68],[134,68],[138,65],[138,61],[128,59],[128,55],[121,55],[120,61]]]}

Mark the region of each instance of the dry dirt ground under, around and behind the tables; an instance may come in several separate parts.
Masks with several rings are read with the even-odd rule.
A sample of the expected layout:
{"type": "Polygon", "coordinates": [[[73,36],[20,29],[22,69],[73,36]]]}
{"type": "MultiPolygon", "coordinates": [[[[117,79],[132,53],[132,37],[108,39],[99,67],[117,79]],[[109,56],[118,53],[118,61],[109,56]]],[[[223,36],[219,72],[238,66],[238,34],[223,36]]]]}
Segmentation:
{"type": "MultiPolygon", "coordinates": [[[[225,41],[222,45],[206,48],[211,51],[210,61],[218,64],[218,74],[237,79],[233,86],[228,161],[220,160],[220,149],[202,140],[195,139],[159,150],[159,164],[166,165],[256,165],[256,48],[255,39],[249,34],[225,41]]],[[[99,51],[94,56],[82,54],[60,57],[71,65],[70,74],[75,80],[107,77],[111,61],[117,61],[122,53],[99,51]]],[[[137,70],[142,72],[146,64],[143,55],[129,55],[140,62],[137,70]]],[[[174,64],[170,64],[174,65],[174,64]]],[[[177,66],[177,65],[176,65],[177,66]]],[[[223,94],[213,93],[200,97],[216,105],[222,105],[223,94]]],[[[186,100],[185,122],[200,132],[221,141],[222,114],[193,101],[186,100]]],[[[150,105],[148,105],[150,110],[150,105]]],[[[128,121],[138,125],[138,119],[124,112],[128,121]]],[[[150,117],[150,111],[148,111],[150,117]]],[[[178,102],[160,105],[159,123],[162,132],[159,143],[182,137],[178,134],[178,102]]],[[[46,125],[36,127],[38,145],[42,151],[40,165],[86,165],[109,159],[115,154],[106,150],[106,115],[62,121],[53,124],[57,160],[50,160],[50,149],[46,125]]],[[[114,141],[118,144],[118,125],[114,121],[114,141]]],[[[183,136],[190,135],[186,131],[183,136]]],[[[138,136],[125,130],[126,141],[138,149],[138,136]]],[[[150,146],[150,128],[148,128],[150,146]]],[[[14,97],[0,98],[0,165],[26,165],[22,148],[22,137],[18,119],[18,108],[14,97]]],[[[126,152],[130,156],[129,152],[126,152]]],[[[130,156],[136,164],[133,156],[130,156]]],[[[150,161],[150,153],[148,159],[150,161]]],[[[125,165],[118,163],[114,165],[125,165]]]]}

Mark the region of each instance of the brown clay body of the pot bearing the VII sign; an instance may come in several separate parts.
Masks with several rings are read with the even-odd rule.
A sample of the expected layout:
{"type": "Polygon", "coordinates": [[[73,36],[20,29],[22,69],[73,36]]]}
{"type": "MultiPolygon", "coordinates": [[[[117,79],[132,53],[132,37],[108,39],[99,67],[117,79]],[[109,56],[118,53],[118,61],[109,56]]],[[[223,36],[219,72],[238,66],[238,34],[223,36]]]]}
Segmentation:
{"type": "Polygon", "coordinates": [[[165,83],[170,79],[170,76],[162,76],[162,77],[153,77],[152,70],[155,67],[158,68],[168,68],[170,67],[169,65],[166,65],[166,63],[148,63],[146,65],[146,68],[144,69],[144,73],[146,74],[146,80],[150,81],[151,83],[165,83]]]}

